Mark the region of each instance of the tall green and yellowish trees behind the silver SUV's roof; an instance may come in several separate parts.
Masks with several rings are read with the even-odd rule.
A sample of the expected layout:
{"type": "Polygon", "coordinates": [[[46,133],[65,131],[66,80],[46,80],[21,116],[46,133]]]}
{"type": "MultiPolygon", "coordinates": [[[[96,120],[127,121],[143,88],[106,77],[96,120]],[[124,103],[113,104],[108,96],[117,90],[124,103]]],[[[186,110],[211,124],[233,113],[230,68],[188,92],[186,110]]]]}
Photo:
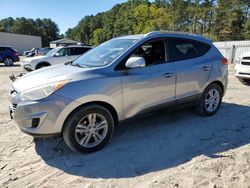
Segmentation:
{"type": "Polygon", "coordinates": [[[154,30],[202,34],[214,41],[250,39],[249,0],[129,0],[84,17],[65,33],[85,44],[154,30]]]}

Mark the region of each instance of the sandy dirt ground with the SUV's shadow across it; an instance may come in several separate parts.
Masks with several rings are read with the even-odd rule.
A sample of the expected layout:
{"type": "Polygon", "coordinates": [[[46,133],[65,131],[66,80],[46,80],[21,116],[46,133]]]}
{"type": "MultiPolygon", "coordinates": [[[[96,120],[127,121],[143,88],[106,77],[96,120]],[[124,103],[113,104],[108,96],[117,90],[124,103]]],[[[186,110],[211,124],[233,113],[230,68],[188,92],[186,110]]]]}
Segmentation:
{"type": "Polygon", "coordinates": [[[250,187],[250,86],[229,68],[215,116],[152,113],[117,126],[101,151],[79,154],[10,120],[8,76],[20,67],[0,66],[0,187],[250,187]]]}

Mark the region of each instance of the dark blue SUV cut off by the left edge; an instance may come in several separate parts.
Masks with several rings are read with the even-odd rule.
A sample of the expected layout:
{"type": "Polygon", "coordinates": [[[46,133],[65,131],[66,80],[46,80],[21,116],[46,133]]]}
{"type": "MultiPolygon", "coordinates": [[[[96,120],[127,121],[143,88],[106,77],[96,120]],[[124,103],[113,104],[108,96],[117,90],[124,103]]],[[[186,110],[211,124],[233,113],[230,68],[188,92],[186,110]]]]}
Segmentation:
{"type": "Polygon", "coordinates": [[[0,62],[6,66],[13,65],[14,62],[19,61],[17,50],[10,46],[0,46],[0,62]]]}

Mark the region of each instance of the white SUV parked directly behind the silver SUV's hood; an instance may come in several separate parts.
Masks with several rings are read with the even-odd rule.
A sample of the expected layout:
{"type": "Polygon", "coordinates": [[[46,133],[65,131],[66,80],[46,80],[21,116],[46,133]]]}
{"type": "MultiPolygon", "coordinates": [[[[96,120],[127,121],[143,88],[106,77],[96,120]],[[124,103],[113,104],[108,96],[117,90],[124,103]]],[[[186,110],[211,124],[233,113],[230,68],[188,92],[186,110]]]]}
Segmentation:
{"type": "Polygon", "coordinates": [[[92,49],[91,46],[57,47],[49,51],[45,56],[22,60],[21,67],[26,71],[33,71],[50,65],[71,62],[90,49],[92,49]]]}

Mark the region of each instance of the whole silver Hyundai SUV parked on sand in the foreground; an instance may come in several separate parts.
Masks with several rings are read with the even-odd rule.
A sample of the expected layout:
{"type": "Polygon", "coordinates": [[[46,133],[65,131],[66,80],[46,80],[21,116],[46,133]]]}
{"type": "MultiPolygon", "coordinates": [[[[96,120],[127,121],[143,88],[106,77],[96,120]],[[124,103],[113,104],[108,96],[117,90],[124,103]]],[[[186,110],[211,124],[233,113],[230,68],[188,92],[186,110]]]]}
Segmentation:
{"type": "Polygon", "coordinates": [[[227,60],[202,36],[119,37],[72,63],[19,78],[10,91],[10,114],[25,133],[59,134],[72,150],[93,152],[109,141],[119,121],[158,107],[186,103],[214,115],[227,75],[227,60]]]}

